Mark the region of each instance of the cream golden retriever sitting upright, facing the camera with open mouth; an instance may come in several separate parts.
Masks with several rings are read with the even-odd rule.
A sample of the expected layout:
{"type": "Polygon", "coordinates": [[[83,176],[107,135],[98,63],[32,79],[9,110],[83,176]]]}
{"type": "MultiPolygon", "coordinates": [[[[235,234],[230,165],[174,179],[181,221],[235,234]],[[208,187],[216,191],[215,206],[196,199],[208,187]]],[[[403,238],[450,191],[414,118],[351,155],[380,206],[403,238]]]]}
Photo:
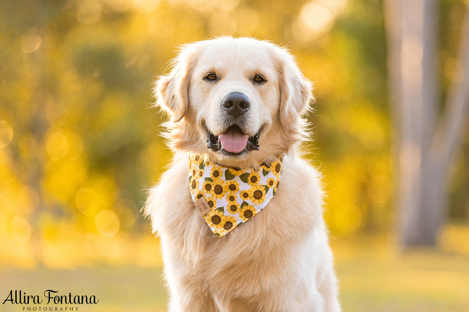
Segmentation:
{"type": "Polygon", "coordinates": [[[150,189],[145,214],[161,241],[168,311],[340,311],[321,175],[299,152],[311,91],[292,54],[250,37],[183,45],[158,78],[155,105],[169,114],[163,135],[174,158],[150,189]],[[189,167],[205,162],[228,168],[228,179],[244,171],[259,177],[259,164],[275,159],[281,177],[272,171],[279,180],[276,192],[265,186],[274,194],[268,204],[236,228],[225,219],[224,232],[216,232],[213,215],[226,210],[202,215],[189,190],[201,182],[190,184],[197,173],[189,167]]]}

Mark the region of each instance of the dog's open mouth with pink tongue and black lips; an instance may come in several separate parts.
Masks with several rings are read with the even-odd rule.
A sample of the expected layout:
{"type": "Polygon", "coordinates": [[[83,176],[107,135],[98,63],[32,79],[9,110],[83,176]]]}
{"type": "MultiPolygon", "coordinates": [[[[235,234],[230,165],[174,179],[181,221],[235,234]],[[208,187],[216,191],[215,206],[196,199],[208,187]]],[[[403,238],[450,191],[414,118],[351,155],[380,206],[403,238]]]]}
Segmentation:
{"type": "Polygon", "coordinates": [[[205,126],[207,134],[207,149],[223,152],[227,155],[241,155],[245,151],[259,150],[259,135],[261,129],[254,136],[243,134],[238,126],[230,126],[225,133],[216,136],[205,126]]]}

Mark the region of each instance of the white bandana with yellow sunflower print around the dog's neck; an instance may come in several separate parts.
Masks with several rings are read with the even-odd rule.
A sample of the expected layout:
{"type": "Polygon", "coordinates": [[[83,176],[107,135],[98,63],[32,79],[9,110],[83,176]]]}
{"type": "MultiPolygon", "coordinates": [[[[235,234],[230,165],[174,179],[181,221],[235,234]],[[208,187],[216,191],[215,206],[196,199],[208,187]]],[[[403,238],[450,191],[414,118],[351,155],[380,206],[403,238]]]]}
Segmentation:
{"type": "Polygon", "coordinates": [[[203,217],[215,236],[226,235],[269,203],[279,187],[283,157],[244,170],[206,161],[200,155],[189,155],[192,201],[196,206],[197,201],[206,201],[204,212],[208,212],[203,217]]]}

